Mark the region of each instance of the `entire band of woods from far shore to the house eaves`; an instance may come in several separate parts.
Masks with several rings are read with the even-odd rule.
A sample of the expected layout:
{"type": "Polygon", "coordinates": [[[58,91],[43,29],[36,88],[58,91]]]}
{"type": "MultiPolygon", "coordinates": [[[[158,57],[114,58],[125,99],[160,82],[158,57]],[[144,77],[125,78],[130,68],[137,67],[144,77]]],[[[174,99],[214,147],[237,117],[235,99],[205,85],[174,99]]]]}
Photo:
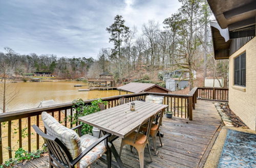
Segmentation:
{"type": "Polygon", "coordinates": [[[1,59],[7,60],[12,74],[49,71],[65,77],[97,77],[102,72],[114,74],[117,82],[130,78],[137,70],[174,70],[189,72],[190,89],[194,70],[206,76],[223,76],[227,83],[227,61],[214,59],[210,40],[211,11],[206,0],[179,0],[178,11],[162,20],[148,20],[142,27],[129,27],[125,18],[116,15],[106,27],[112,48],[101,48],[97,59],[58,58],[54,54],[20,55],[5,47],[1,59]]]}

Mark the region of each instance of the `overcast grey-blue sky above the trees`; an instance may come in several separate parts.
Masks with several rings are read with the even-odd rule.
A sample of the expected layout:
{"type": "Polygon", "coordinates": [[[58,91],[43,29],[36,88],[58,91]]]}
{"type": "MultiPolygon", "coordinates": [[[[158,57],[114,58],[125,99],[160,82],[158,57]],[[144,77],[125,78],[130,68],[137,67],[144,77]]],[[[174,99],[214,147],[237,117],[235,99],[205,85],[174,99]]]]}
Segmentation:
{"type": "Polygon", "coordinates": [[[112,47],[105,29],[117,14],[140,31],[150,19],[162,26],[180,6],[178,0],[0,0],[0,51],[96,58],[100,48],[112,47]]]}

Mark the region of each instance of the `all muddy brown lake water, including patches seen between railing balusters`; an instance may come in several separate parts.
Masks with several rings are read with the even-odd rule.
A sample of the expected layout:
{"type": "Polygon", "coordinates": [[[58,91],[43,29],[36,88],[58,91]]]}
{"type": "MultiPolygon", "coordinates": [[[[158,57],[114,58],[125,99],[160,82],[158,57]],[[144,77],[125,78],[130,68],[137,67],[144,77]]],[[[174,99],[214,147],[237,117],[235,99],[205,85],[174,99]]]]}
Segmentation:
{"type": "MultiPolygon", "coordinates": [[[[86,92],[78,92],[79,89],[87,89],[88,86],[74,87],[74,85],[86,85],[86,83],[79,81],[44,81],[44,82],[17,82],[8,83],[8,92],[12,92],[15,88],[19,90],[18,95],[13,99],[13,101],[8,104],[8,111],[16,111],[21,109],[29,109],[37,107],[42,100],[54,100],[56,104],[58,103],[68,103],[72,102],[74,99],[94,99],[102,97],[110,97],[119,95],[117,90],[109,91],[99,91],[92,90],[86,92]]],[[[3,88],[3,83],[0,83],[0,91],[3,88]]],[[[0,92],[2,93],[2,92],[0,92]]],[[[121,92],[121,94],[126,94],[126,92],[121,92]]],[[[0,102],[2,103],[2,102],[0,102]]],[[[2,106],[2,104],[1,104],[2,106]]],[[[56,114],[55,114],[56,115],[56,114]]],[[[56,118],[56,116],[55,116],[56,118]]],[[[31,117],[31,125],[36,124],[36,118],[31,117]]],[[[22,128],[27,128],[28,118],[22,119],[22,128]]],[[[1,123],[2,127],[2,143],[3,143],[3,153],[4,159],[8,158],[8,123],[4,125],[1,123]]],[[[39,118],[39,126],[43,129],[44,124],[42,124],[39,118]]],[[[69,126],[69,125],[68,125],[69,126]]],[[[12,156],[14,152],[19,148],[18,144],[18,133],[16,130],[18,128],[18,120],[12,121],[11,126],[11,138],[12,138],[12,156]],[[16,133],[15,133],[16,132],[16,133]]],[[[25,131],[26,132],[26,131],[25,131]]],[[[36,150],[36,133],[34,129],[31,129],[31,149],[36,150]]],[[[27,137],[23,138],[22,144],[25,150],[28,150],[27,137]]],[[[43,144],[43,139],[39,138],[40,145],[43,144]]]]}

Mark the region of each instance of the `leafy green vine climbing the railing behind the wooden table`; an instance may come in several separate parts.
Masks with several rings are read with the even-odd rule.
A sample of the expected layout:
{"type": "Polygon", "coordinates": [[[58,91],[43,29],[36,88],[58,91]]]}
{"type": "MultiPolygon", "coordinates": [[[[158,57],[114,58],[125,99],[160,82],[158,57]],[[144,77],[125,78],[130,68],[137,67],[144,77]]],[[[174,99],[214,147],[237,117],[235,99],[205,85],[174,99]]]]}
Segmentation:
{"type": "MultiPolygon", "coordinates": [[[[90,115],[92,113],[99,111],[100,108],[99,108],[98,104],[104,103],[106,105],[107,101],[102,101],[101,99],[98,99],[98,100],[92,101],[91,104],[88,105],[88,104],[84,103],[84,101],[82,99],[76,99],[73,101],[73,103],[75,104],[73,106],[74,113],[73,113],[73,116],[68,117],[68,120],[70,122],[72,121],[72,124],[74,125],[78,122],[79,117],[90,115]]],[[[83,125],[81,128],[82,134],[92,133],[93,126],[82,123],[82,122],[78,122],[78,123],[83,125]]]]}

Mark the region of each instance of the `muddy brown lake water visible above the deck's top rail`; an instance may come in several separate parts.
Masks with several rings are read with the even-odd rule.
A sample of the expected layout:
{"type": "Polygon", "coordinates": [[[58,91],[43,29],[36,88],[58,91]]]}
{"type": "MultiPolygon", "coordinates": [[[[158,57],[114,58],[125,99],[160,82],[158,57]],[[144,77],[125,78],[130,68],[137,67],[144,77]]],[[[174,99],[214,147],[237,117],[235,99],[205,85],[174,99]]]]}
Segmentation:
{"type": "MultiPolygon", "coordinates": [[[[74,87],[74,85],[86,85],[79,81],[43,81],[43,82],[17,82],[8,83],[8,92],[15,87],[19,90],[18,95],[8,104],[8,111],[16,111],[37,107],[42,100],[54,100],[55,103],[72,102],[74,99],[83,100],[102,98],[119,95],[117,90],[109,91],[86,91],[78,92],[79,89],[87,89],[88,86],[74,87]]],[[[0,83],[3,85],[3,83],[0,83]]],[[[126,94],[126,92],[121,92],[126,94]]],[[[2,102],[1,102],[2,103],[2,102]]]]}

